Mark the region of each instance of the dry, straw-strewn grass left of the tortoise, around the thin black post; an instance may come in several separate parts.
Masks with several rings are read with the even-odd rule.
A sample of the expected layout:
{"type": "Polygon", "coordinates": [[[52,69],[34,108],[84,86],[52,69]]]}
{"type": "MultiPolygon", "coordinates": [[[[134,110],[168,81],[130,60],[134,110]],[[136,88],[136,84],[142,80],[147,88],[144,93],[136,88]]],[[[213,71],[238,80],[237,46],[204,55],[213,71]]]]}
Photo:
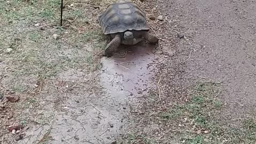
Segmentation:
{"type": "Polygon", "coordinates": [[[54,105],[55,99],[45,100],[42,92],[60,87],[58,75],[70,69],[92,75],[100,67],[107,39],[97,23],[99,10],[91,2],[65,2],[63,27],[59,26],[58,0],[0,2],[0,93],[20,95],[15,103],[0,99],[1,143],[14,141],[9,125],[52,122],[54,112],[49,113],[51,107],[46,105],[54,105]]]}

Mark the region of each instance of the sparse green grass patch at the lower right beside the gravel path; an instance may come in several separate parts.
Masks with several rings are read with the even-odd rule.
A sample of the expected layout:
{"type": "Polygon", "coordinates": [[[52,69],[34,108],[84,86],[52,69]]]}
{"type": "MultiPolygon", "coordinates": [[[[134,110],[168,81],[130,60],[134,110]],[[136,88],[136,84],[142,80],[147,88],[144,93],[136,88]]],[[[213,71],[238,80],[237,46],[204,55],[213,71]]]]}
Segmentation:
{"type": "Polygon", "coordinates": [[[163,121],[176,121],[187,125],[185,128],[187,132],[180,132],[178,135],[180,141],[185,143],[255,143],[255,119],[245,119],[244,126],[240,129],[221,125],[214,120],[214,111],[220,110],[222,106],[221,101],[215,98],[218,93],[220,93],[220,84],[198,84],[187,103],[159,113],[159,118],[163,121]],[[187,117],[188,121],[182,122],[182,117],[187,117]],[[193,124],[196,129],[191,129],[189,124],[193,124]]]}

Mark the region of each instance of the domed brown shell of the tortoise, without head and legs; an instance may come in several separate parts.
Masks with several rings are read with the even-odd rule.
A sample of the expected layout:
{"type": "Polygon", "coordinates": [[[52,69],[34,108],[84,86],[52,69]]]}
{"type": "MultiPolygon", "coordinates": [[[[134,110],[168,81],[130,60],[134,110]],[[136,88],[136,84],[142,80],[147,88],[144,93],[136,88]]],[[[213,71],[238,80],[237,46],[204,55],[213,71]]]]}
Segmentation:
{"type": "Polygon", "coordinates": [[[132,2],[110,4],[98,20],[105,35],[126,30],[149,30],[145,12],[132,2]]]}

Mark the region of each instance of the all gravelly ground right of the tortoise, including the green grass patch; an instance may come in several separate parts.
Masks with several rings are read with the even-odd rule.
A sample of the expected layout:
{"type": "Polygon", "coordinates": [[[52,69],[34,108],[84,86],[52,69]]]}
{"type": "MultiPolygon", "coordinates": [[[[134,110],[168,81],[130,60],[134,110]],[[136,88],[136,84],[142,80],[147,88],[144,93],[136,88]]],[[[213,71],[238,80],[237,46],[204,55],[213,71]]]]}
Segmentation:
{"type": "Polygon", "coordinates": [[[163,41],[128,143],[255,143],[255,3],[146,3],[163,41]]]}

